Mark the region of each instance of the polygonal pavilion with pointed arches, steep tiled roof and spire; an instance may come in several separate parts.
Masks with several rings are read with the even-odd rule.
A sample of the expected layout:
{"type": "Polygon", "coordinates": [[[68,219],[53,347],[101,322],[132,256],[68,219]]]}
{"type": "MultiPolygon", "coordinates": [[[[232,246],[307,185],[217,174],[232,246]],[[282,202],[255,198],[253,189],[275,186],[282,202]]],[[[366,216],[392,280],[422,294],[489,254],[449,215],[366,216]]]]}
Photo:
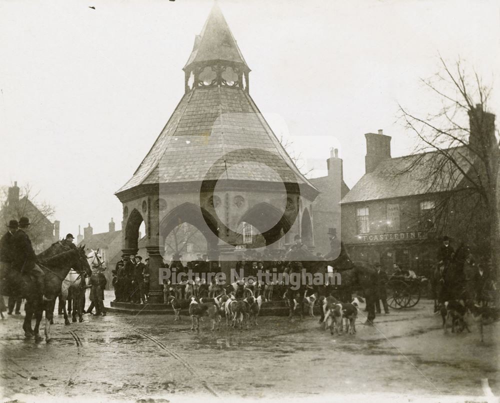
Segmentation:
{"type": "Polygon", "coordinates": [[[291,243],[295,234],[313,247],[311,203],[319,192],[251,99],[250,69],[216,4],[183,71],[184,95],[116,192],[123,205],[124,255],[137,251],[138,228],[145,223],[152,301],[162,297],[155,273],[164,239],[183,222],[203,234],[208,259],[226,273],[234,267],[242,223],[256,228],[267,248],[291,243]]]}

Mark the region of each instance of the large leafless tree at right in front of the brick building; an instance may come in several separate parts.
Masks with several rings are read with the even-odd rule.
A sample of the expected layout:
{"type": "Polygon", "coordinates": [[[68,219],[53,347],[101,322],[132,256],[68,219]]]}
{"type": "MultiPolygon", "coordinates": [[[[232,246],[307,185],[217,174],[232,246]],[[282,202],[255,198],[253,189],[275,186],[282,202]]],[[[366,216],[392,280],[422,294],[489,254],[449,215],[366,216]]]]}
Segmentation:
{"type": "Polygon", "coordinates": [[[487,112],[491,89],[475,71],[467,75],[460,61],[450,67],[439,59],[441,71],[422,82],[440,99],[440,110],[421,117],[400,106],[418,144],[417,154],[397,174],[416,171],[418,175],[420,170],[422,186],[435,194],[429,214],[437,232],[451,223],[472,229],[477,246],[482,245],[479,250],[491,257],[498,270],[500,148],[495,116],[487,112]]]}

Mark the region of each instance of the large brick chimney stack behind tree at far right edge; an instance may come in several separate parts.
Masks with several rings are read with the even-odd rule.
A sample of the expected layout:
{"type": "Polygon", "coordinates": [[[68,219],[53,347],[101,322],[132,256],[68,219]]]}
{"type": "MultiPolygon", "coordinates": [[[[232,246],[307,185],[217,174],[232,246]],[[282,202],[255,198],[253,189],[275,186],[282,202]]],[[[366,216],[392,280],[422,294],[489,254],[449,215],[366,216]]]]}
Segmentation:
{"type": "Polygon", "coordinates": [[[482,109],[477,104],[468,112],[469,115],[469,145],[477,152],[484,153],[489,147],[497,147],[495,139],[495,115],[482,109]]]}

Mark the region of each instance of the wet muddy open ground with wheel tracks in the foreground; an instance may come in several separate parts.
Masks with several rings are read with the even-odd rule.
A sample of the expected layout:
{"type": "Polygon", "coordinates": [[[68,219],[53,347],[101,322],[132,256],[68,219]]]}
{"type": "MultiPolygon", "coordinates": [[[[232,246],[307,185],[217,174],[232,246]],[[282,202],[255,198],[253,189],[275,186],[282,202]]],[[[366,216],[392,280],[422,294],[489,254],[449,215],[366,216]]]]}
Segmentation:
{"type": "Polygon", "coordinates": [[[317,317],[260,317],[250,330],[226,329],[222,319],[215,332],[205,319],[197,333],[187,316],[109,313],[69,326],[56,316],[46,344],[23,339],[22,318],[0,321],[4,399],[500,395],[498,323],[485,327],[483,343],[475,325],[444,335],[426,300],[377,317],[376,327],[363,326],[360,312],[357,333],[340,336],[317,317]]]}

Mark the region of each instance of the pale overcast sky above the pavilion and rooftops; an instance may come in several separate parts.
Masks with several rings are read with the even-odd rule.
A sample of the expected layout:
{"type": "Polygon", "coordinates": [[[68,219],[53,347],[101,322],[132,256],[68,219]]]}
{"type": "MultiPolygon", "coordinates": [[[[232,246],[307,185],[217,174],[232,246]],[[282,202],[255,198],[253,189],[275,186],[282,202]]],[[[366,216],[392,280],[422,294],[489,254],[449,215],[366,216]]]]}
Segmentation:
{"type": "MultiPolygon", "coordinates": [[[[438,71],[438,53],[493,83],[489,106],[499,110],[497,1],[218,3],[276,134],[308,166],[325,168],[339,148],[349,187],[364,173],[364,133],[392,136],[392,156],[411,151],[397,104],[420,114],[439,107],[419,83],[438,71]]],[[[39,190],[61,235],[88,222],[106,231],[111,217],[119,229],[113,193],[182,97],[181,69],[211,4],[0,1],[0,184],[39,190]]]]}

